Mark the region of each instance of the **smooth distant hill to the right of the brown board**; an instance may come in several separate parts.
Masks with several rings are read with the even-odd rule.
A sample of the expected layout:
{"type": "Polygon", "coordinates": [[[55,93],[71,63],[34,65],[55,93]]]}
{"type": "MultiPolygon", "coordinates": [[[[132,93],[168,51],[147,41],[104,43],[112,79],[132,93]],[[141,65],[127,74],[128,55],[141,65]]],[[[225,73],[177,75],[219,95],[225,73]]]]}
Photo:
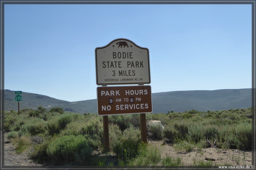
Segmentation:
{"type": "Polygon", "coordinates": [[[251,89],[190,90],[152,94],[154,113],[222,111],[251,107],[251,89]]]}

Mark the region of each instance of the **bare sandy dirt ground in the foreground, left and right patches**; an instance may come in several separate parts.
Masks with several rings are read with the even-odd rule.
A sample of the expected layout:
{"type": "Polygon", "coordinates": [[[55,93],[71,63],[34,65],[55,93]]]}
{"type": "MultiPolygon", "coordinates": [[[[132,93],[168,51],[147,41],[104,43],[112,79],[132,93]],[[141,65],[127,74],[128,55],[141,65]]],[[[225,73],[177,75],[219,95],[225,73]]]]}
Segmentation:
{"type": "MultiPolygon", "coordinates": [[[[6,133],[5,133],[6,135],[6,133]]],[[[182,164],[193,165],[193,162],[212,161],[212,165],[251,165],[252,152],[241,150],[222,150],[218,148],[204,148],[202,150],[193,150],[191,152],[179,152],[171,145],[162,145],[162,141],[148,141],[149,145],[161,150],[161,157],[171,156],[172,158],[181,158],[182,164]],[[208,158],[208,159],[207,159],[208,158]],[[207,160],[206,160],[207,159],[207,160]]],[[[4,141],[4,163],[7,166],[42,166],[28,158],[30,150],[22,154],[15,153],[15,146],[5,138],[4,141]]]]}

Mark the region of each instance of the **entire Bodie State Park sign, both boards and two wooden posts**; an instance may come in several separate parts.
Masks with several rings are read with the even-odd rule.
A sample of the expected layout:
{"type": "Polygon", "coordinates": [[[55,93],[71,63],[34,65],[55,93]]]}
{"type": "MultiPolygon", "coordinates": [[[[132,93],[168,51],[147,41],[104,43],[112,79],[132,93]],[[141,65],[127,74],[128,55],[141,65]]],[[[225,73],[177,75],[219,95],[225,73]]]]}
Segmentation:
{"type": "Polygon", "coordinates": [[[152,112],[149,50],[129,39],[95,48],[98,115],[103,116],[104,148],[109,150],[108,115],[141,114],[141,141],[146,139],[146,112],[152,112]],[[139,84],[140,86],[111,86],[139,84]]]}

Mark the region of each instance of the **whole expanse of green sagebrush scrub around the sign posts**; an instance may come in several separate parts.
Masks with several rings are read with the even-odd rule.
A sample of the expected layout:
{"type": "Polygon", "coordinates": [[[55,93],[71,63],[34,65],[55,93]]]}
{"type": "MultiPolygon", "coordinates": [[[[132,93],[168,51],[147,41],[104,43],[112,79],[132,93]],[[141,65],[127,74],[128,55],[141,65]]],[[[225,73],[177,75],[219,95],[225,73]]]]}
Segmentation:
{"type": "MultiPolygon", "coordinates": [[[[61,114],[59,113],[61,109],[59,109],[59,112],[57,112],[57,108],[51,109],[51,112],[47,112],[42,106],[36,111],[22,109],[20,115],[16,111],[5,111],[4,128],[5,131],[11,132],[7,133],[6,137],[16,146],[17,152],[23,152],[31,145],[28,142],[30,138],[33,140],[35,135],[43,135],[45,137],[44,140],[34,145],[34,151],[30,155],[31,158],[38,162],[45,163],[45,161],[53,160],[54,157],[57,158],[58,163],[60,161],[63,163],[67,157],[72,157],[73,162],[75,161],[82,165],[107,164],[102,158],[91,156],[91,150],[101,148],[103,145],[102,116],[91,113],[84,115],[75,113],[61,114]],[[49,138],[47,135],[49,135],[49,138]],[[63,145],[75,145],[75,141],[64,140],[67,136],[70,138],[72,136],[74,140],[76,137],[79,136],[80,138],[82,136],[82,140],[86,140],[86,146],[88,147],[74,151],[72,156],[70,156],[71,154],[65,155],[64,151],[57,151],[56,141],[59,143],[58,148],[66,147],[60,143],[63,145]],[[59,142],[57,139],[59,139],[59,142]],[[51,150],[52,147],[55,148],[56,152],[51,150]],[[50,152],[56,154],[49,156],[50,152]],[[57,153],[61,153],[59,160],[57,153]]],[[[139,148],[141,143],[139,131],[140,114],[112,115],[109,116],[109,120],[110,150],[119,156],[119,165],[157,164],[157,161],[154,160],[158,160],[158,156],[152,154],[151,158],[148,155],[153,153],[151,150],[155,148],[143,150],[139,148]],[[146,158],[146,160],[143,160],[143,158],[146,158]]],[[[147,113],[146,120],[160,120],[165,125],[162,137],[167,142],[173,143],[175,149],[179,151],[189,152],[195,148],[206,148],[213,143],[214,146],[222,149],[251,149],[252,146],[251,108],[207,112],[191,110],[184,113],[169,112],[168,114],[147,113]]],[[[148,130],[152,134],[152,139],[161,139],[160,127],[148,130]],[[154,135],[153,132],[155,132],[154,135]]],[[[180,165],[179,160],[178,158],[176,160],[168,157],[165,160],[163,159],[162,162],[158,161],[158,165],[161,165],[161,163],[163,165],[180,165]]]]}

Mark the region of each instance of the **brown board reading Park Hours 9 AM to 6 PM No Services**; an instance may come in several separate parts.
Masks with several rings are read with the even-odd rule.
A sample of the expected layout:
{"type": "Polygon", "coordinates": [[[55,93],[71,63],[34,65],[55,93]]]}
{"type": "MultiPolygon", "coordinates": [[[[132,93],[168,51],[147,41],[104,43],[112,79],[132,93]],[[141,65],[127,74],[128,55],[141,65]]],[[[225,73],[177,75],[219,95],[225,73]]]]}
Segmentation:
{"type": "Polygon", "coordinates": [[[152,112],[151,86],[97,87],[98,115],[152,112]]]}

